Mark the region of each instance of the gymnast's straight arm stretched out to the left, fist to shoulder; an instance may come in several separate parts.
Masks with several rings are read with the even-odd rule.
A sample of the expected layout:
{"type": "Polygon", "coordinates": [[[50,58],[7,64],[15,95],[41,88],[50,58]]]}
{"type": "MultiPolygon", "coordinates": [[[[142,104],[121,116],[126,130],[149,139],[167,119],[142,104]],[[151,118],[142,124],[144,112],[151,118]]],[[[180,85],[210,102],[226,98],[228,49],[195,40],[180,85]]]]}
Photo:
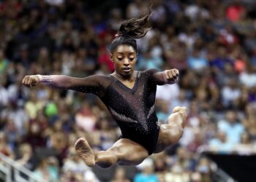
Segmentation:
{"type": "Polygon", "coordinates": [[[102,95],[104,92],[104,76],[93,75],[85,78],[76,78],[65,75],[29,75],[23,78],[22,83],[27,87],[35,87],[37,84],[45,84],[49,87],[89,92],[102,95]]]}

